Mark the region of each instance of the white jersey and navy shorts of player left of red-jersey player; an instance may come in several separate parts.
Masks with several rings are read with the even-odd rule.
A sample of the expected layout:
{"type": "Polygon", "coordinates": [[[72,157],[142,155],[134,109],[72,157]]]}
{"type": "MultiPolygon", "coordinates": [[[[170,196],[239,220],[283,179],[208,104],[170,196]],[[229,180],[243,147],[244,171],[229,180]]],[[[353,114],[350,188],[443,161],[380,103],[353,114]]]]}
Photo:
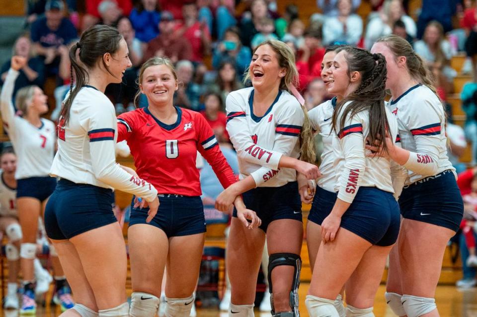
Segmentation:
{"type": "Polygon", "coordinates": [[[61,180],[45,211],[48,237],[70,239],[115,222],[111,208],[113,189],[147,201],[157,197],[154,186],[116,164],[116,139],[111,101],[92,86],[82,87],[71,106],[68,125],[63,119],[59,123],[58,152],[50,174],[61,180]]]}

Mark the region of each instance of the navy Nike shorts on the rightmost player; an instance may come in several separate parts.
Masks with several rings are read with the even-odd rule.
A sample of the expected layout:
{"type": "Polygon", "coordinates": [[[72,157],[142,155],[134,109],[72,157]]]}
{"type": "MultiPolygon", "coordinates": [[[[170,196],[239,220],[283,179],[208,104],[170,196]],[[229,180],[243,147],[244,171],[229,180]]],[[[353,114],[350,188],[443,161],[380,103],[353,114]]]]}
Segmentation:
{"type": "Polygon", "coordinates": [[[464,203],[451,170],[405,186],[399,197],[402,217],[449,228],[457,232],[464,203]]]}

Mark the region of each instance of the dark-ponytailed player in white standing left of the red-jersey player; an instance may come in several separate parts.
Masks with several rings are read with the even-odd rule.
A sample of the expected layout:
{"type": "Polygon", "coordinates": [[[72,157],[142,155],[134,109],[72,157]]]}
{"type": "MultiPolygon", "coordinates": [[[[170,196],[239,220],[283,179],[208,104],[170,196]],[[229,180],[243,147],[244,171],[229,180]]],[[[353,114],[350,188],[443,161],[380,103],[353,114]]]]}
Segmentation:
{"type": "Polygon", "coordinates": [[[128,46],[115,28],[95,25],[70,49],[70,62],[76,86],[60,113],[50,172],[61,179],[45,211],[46,232],[77,301],[63,316],[128,316],[126,248],[111,189],[143,197],[149,220],[159,206],[154,186],[116,164],[114,154],[116,116],[104,90],[131,66],[128,46]]]}

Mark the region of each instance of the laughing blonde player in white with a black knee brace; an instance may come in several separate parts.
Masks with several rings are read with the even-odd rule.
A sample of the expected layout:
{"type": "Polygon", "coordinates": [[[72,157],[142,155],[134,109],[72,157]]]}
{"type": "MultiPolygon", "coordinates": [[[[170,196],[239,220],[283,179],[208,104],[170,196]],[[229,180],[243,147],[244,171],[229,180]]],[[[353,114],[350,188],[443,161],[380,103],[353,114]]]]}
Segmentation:
{"type": "Polygon", "coordinates": [[[226,209],[243,193],[247,208],[262,220],[261,230],[247,232],[232,219],[226,255],[232,285],[229,316],[253,316],[265,238],[272,315],[299,316],[303,224],[296,174],[316,179],[319,171],[308,163],[315,162],[315,152],[306,111],[289,93],[301,97],[294,88],[296,78],[291,49],[266,41],[255,49],[247,71],[252,87],[227,97],[227,131],[239,157],[241,181],[219,195],[216,208],[226,209]],[[298,160],[300,151],[303,161],[298,160]]]}

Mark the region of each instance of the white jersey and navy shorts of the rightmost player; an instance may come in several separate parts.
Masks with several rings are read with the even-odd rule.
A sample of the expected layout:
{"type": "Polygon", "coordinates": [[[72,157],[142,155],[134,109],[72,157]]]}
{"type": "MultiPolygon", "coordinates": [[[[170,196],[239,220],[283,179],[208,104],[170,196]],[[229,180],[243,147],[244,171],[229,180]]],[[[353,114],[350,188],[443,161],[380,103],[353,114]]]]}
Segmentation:
{"type": "Polygon", "coordinates": [[[402,148],[410,151],[404,164],[409,172],[399,198],[402,216],[457,231],[464,207],[455,168],[447,156],[442,103],[432,90],[417,84],[388,107],[397,117],[402,148]]]}

